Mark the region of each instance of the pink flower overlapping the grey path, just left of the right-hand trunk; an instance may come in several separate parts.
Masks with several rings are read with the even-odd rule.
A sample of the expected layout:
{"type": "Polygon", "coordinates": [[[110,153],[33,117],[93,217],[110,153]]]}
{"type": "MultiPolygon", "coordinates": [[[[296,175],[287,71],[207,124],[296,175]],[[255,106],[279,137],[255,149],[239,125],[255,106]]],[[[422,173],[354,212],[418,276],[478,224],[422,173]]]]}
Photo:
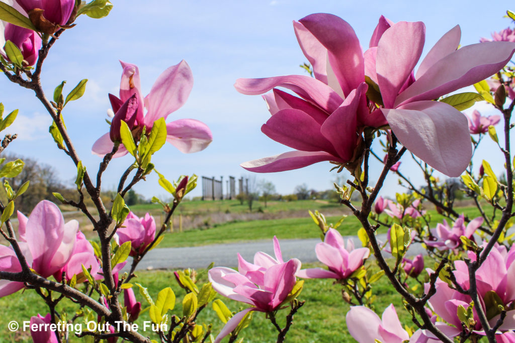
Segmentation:
{"type": "Polygon", "coordinates": [[[321,268],[301,269],[297,273],[298,277],[347,279],[363,265],[363,262],[370,255],[369,248],[354,249],[354,243],[350,239],[347,241],[346,248],[344,238],[333,228],[325,233],[324,241],[316,245],[315,252],[318,260],[327,265],[329,270],[321,268]]]}

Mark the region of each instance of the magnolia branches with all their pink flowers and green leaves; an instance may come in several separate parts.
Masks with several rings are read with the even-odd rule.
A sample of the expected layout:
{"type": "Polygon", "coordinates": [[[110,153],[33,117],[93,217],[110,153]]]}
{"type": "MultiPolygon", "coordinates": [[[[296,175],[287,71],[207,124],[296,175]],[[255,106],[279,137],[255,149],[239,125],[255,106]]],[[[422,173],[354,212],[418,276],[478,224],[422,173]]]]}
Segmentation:
{"type": "MultiPolygon", "coordinates": [[[[41,297],[48,312],[27,318],[35,342],[65,342],[72,336],[91,342],[118,338],[241,342],[238,335],[256,312],[270,320],[278,332],[277,341],[282,342],[304,304],[297,298],[309,281],[302,279],[312,278],[336,280],[335,287],[341,288],[343,300],[351,305],[345,316],[347,327],[359,342],[515,342],[515,248],[511,246],[513,235],[507,232],[513,224],[514,185],[510,150],[514,69],[506,66],[515,51],[512,30],[493,34],[493,41],[482,39],[459,47],[460,28],[456,26],[415,71],[425,39],[421,22],[393,23],[381,17],[365,51],[352,27],[337,16],[312,14],[294,22],[311,76],[239,79],[235,84],[238,92],[264,94],[272,116],[262,132],[294,150],[242,166],[253,172],[279,172],[330,161],[337,172],[347,169],[354,179],[335,184],[336,192],[361,223],[356,236],[363,246],[355,247],[352,240],[345,242],[341,237],[337,227],[345,221],[333,225],[322,213],[310,212],[323,241],[317,244],[316,255],[327,269],[302,269],[298,259],[285,261],[274,237],[273,257],[256,252],[251,263],[238,255],[234,260],[237,270],[208,268],[208,283],[200,284],[195,270],[175,272],[174,282],[184,289],[182,300],[177,299],[182,309],[177,310],[170,287],[156,296],[147,291],[145,280],[131,281],[140,261],[163,238],[184,195],[196,185],[195,175],[168,181],[152,164],[152,155],[165,142],[183,153],[193,153],[212,140],[209,128],[198,120],[166,122],[192,89],[190,67],[185,61],[169,67],[143,97],[138,67],[121,62],[119,94],[108,95],[110,130],[92,147],[101,157],[96,171],[82,165],[64,124],[66,104],[82,96],[87,80],[70,92],[65,92],[62,82],[50,98],[42,88],[42,65],[52,46],[73,29],[76,18],[82,14],[105,17],[111,8],[106,0],[0,2],[5,38],[0,69],[12,83],[35,92],[52,117],[49,133],[77,167],[79,200],[54,196],[87,216],[98,236],[88,241],[78,222],[65,223],[59,208],[49,201],[38,203],[28,217],[18,212],[18,227],[14,227],[10,218],[16,198],[30,185],[13,189],[8,182],[23,169],[22,160],[0,160],[8,198],[0,204],[0,233],[8,243],[0,245],[0,296],[24,289],[41,297]],[[446,96],[470,85],[477,93],[446,96]],[[488,101],[500,115],[483,117],[475,111],[467,118],[460,112],[476,101],[488,101]],[[497,136],[496,124],[502,126],[504,141],[497,136]],[[491,166],[487,160],[480,168],[472,164],[487,134],[504,156],[504,166],[491,166]],[[382,148],[373,145],[374,140],[382,148]],[[105,204],[100,198],[102,175],[113,158],[124,155],[129,155],[125,157],[128,168],[112,203],[105,204]],[[415,160],[424,187],[417,188],[403,174],[401,157],[415,160]],[[376,180],[370,174],[371,158],[382,166],[376,180]],[[461,183],[442,183],[436,171],[461,176],[461,183]],[[152,199],[166,213],[160,228],[152,216],[147,213],[139,218],[124,201],[132,187],[152,172],[173,196],[170,203],[152,199]],[[397,194],[394,200],[379,196],[385,182],[396,177],[409,192],[397,194]],[[477,218],[455,209],[457,188],[471,198],[477,218]],[[361,202],[350,201],[354,192],[361,202]],[[85,205],[86,198],[93,202],[93,210],[85,205]],[[433,225],[425,210],[428,205],[447,219],[433,225]],[[378,230],[388,232],[385,242],[377,239],[378,230]],[[414,242],[427,257],[410,254],[414,242]],[[375,264],[369,262],[371,256],[375,264]],[[424,270],[429,260],[432,265],[424,270]],[[376,314],[383,310],[373,305],[374,283],[381,278],[388,280],[392,293],[403,298],[412,317],[409,324],[402,326],[393,305],[384,309],[382,318],[376,314]],[[241,311],[232,313],[218,294],[242,302],[241,311]],[[72,311],[70,304],[75,306],[72,311]],[[136,329],[142,307],[148,311],[152,332],[136,329]],[[213,309],[225,323],[220,332],[212,333],[212,323],[197,323],[203,320],[205,309],[213,309]]],[[[513,13],[508,11],[508,15],[515,19],[513,13]]],[[[0,112],[4,112],[3,105],[0,112]]],[[[2,115],[0,130],[17,113],[2,115]]],[[[6,135],[0,151],[14,138],[6,135]]]]}

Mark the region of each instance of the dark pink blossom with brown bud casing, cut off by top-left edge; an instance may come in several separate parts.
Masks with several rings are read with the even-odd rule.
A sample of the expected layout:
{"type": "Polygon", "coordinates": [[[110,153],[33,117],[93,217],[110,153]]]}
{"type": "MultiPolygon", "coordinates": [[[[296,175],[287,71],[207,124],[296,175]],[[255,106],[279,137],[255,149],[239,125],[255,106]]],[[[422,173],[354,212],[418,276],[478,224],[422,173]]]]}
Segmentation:
{"type": "MultiPolygon", "coordinates": [[[[75,0],[16,0],[16,3],[28,13],[32,23],[42,30],[44,26],[47,26],[45,21],[54,25],[65,25],[75,7],[75,0]],[[43,11],[37,13],[38,10],[43,11]]],[[[58,28],[55,27],[53,32],[45,33],[54,33],[58,28]]]]}

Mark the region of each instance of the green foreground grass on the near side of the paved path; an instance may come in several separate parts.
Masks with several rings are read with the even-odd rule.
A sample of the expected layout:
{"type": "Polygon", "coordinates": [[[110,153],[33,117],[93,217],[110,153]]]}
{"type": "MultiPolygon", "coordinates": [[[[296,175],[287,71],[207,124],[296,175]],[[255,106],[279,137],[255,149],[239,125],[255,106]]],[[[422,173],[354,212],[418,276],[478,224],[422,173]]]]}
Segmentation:
{"type": "MultiPolygon", "coordinates": [[[[307,267],[313,267],[308,265],[307,267]]],[[[376,267],[374,267],[376,268],[376,267]]],[[[176,293],[176,309],[173,313],[180,315],[182,313],[181,302],[185,295],[184,290],[177,286],[173,272],[157,270],[152,272],[139,272],[139,278],[135,282],[141,282],[143,285],[148,286],[150,295],[153,298],[157,297],[157,293],[164,287],[172,287],[176,293]]],[[[206,277],[201,278],[201,283],[206,281],[206,277]]],[[[295,321],[291,327],[287,337],[288,342],[304,343],[304,342],[350,342],[353,341],[349,336],[345,324],[345,315],[349,310],[349,304],[341,299],[341,288],[339,285],[334,285],[333,280],[313,279],[306,280],[304,289],[299,297],[299,300],[306,300],[304,306],[295,315],[295,321]]],[[[402,307],[402,301],[399,296],[391,293],[388,287],[388,280],[382,278],[379,282],[374,284],[373,292],[376,295],[374,305],[376,312],[381,315],[390,302],[396,306],[397,312],[401,321],[411,323],[410,317],[402,307]]],[[[136,291],[136,298],[142,301],[143,308],[148,304],[142,300],[142,297],[136,291]]],[[[246,305],[238,303],[226,298],[221,298],[231,311],[239,311],[246,308],[246,305]]],[[[65,308],[73,314],[77,308],[69,300],[61,302],[65,304],[65,308]]],[[[36,295],[34,291],[27,290],[24,293],[18,292],[8,297],[0,299],[0,306],[4,309],[4,315],[0,316],[0,341],[9,342],[31,342],[29,332],[16,332],[12,333],[7,330],[7,324],[11,320],[19,321],[29,320],[31,316],[41,313],[45,315],[47,310],[43,301],[36,295]],[[29,305],[30,304],[30,305],[29,305]]],[[[278,313],[277,318],[281,325],[284,324],[284,317],[287,310],[282,310],[278,313]]],[[[143,320],[149,320],[148,312],[140,316],[136,323],[143,326],[143,320]]],[[[199,315],[197,323],[213,323],[213,334],[216,336],[222,328],[222,323],[217,318],[215,312],[212,310],[211,305],[204,309],[199,315]]],[[[149,334],[150,332],[146,332],[149,334]]],[[[244,342],[271,342],[276,341],[277,332],[272,327],[265,314],[255,312],[250,326],[243,330],[239,337],[245,337],[244,342]]],[[[151,337],[156,338],[156,337],[151,337]]],[[[70,339],[71,342],[81,341],[75,337],[70,339]]],[[[227,341],[224,340],[224,341],[227,341]]]]}

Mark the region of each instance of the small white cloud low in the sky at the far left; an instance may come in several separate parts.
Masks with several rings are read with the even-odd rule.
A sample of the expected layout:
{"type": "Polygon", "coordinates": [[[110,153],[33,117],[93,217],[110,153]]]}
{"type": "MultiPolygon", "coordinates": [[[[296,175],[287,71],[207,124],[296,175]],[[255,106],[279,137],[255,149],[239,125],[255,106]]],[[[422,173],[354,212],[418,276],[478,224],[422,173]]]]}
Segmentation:
{"type": "Polygon", "coordinates": [[[36,112],[32,117],[18,115],[14,123],[6,129],[7,133],[18,134],[16,140],[37,140],[47,137],[52,118],[36,112]]]}

